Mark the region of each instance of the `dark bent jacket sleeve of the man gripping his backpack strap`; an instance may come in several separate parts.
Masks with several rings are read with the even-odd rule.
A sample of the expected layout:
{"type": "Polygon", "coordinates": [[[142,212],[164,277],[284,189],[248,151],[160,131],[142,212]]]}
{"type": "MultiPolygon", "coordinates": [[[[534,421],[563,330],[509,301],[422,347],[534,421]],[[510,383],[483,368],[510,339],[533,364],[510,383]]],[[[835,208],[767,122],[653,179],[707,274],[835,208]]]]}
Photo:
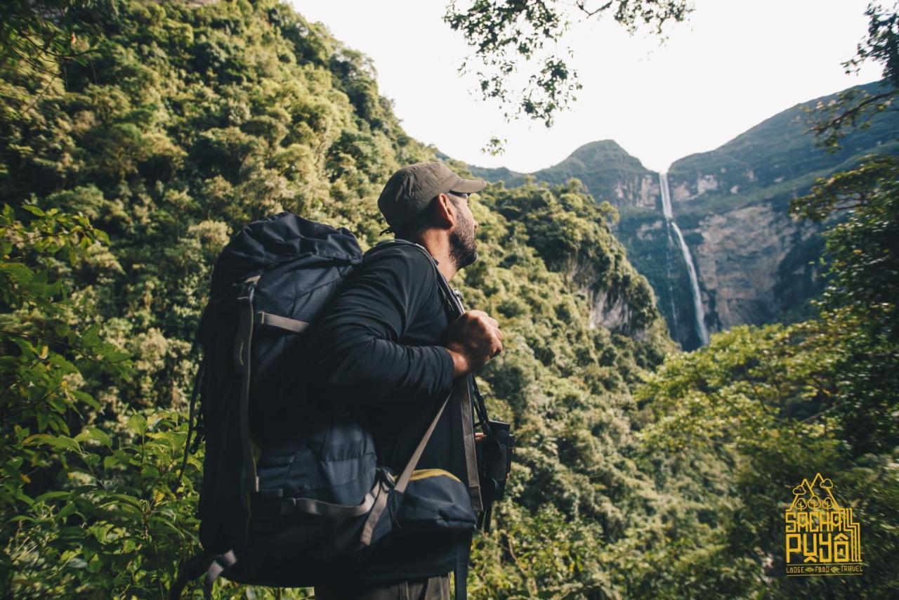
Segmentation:
{"type": "Polygon", "coordinates": [[[417,254],[388,248],[371,255],[312,329],[313,376],[352,404],[391,404],[452,387],[446,348],[399,343],[436,291],[432,265],[417,254]]]}

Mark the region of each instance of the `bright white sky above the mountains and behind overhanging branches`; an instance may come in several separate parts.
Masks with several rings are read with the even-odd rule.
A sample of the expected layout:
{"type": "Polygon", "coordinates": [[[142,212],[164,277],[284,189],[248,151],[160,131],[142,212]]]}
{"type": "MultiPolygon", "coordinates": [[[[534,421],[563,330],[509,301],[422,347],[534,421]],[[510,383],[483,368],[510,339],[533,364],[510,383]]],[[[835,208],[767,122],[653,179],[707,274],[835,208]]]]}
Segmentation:
{"type": "Polygon", "coordinates": [[[475,76],[458,75],[470,49],[442,21],[445,1],[292,2],[373,59],[380,93],[409,135],[472,165],[525,173],[597,139],[615,139],[663,171],[796,103],[880,76],[873,65],[859,76],[841,67],[865,35],[868,0],[694,0],[689,22],[672,26],[661,45],[610,17],[578,26],[565,43],[583,90],[547,130],[506,123],[473,91],[475,76]],[[508,140],[500,157],[481,152],[494,135],[508,140]]]}

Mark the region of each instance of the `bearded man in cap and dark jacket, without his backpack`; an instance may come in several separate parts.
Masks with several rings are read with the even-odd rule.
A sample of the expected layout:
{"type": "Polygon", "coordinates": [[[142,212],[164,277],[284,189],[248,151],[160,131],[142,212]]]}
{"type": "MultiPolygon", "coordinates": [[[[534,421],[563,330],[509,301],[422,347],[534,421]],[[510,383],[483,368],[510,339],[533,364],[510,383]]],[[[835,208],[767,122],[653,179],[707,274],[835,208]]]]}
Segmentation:
{"type": "MultiPolygon", "coordinates": [[[[442,163],[418,163],[392,175],[378,199],[390,226],[385,231],[423,246],[440,275],[414,246],[379,248],[345,282],[308,345],[325,398],[368,416],[378,459],[395,472],[409,460],[454,380],[503,350],[503,333],[485,312],[469,310],[450,322],[437,279],[449,281],[476,261],[477,223],[468,194],[485,185],[442,163]]],[[[462,418],[470,423],[470,408],[444,412],[417,468],[449,470],[476,495],[464,448],[467,443],[473,451],[474,439],[470,425],[462,433],[462,418]]],[[[477,497],[473,505],[479,502],[477,497]]],[[[457,545],[399,529],[359,572],[336,573],[316,586],[316,597],[449,599],[457,545]]]]}

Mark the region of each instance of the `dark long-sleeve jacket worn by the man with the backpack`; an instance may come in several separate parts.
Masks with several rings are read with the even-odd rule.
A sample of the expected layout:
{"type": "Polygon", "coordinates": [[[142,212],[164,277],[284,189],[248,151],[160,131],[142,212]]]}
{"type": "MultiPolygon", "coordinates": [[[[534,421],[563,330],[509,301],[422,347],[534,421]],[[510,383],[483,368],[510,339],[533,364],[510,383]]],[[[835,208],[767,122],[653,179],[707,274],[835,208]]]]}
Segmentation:
{"type": "MultiPolygon", "coordinates": [[[[318,397],[369,416],[378,460],[397,473],[453,385],[452,357],[440,345],[449,316],[438,276],[428,256],[413,246],[367,254],[317,319],[307,345],[308,364],[321,386],[318,397]]],[[[458,471],[459,451],[452,443],[457,429],[445,411],[417,468],[458,471]]],[[[360,575],[421,578],[454,566],[451,539],[399,531],[360,575]]]]}

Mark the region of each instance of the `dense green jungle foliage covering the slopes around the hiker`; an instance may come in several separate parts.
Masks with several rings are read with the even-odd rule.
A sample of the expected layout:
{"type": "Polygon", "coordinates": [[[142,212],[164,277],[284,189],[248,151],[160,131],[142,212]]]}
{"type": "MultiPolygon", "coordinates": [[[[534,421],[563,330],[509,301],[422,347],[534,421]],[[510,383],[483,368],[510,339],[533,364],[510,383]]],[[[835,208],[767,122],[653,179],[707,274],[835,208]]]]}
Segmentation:
{"type": "MultiPolygon", "coordinates": [[[[0,27],[0,589],[163,597],[197,550],[201,451],[177,471],[218,251],[279,210],[368,247],[387,176],[437,150],[405,135],[367,58],[275,0],[36,5],[0,27]]],[[[506,333],[480,379],[520,450],[473,596],[899,587],[899,168],[872,165],[797,203],[857,205],[821,318],[693,354],[581,184],[476,197],[482,258],[458,284],[506,333]],[[598,297],[627,320],[591,327],[598,297]],[[814,470],[858,503],[864,578],[782,577],[779,519],[814,470]]]]}

